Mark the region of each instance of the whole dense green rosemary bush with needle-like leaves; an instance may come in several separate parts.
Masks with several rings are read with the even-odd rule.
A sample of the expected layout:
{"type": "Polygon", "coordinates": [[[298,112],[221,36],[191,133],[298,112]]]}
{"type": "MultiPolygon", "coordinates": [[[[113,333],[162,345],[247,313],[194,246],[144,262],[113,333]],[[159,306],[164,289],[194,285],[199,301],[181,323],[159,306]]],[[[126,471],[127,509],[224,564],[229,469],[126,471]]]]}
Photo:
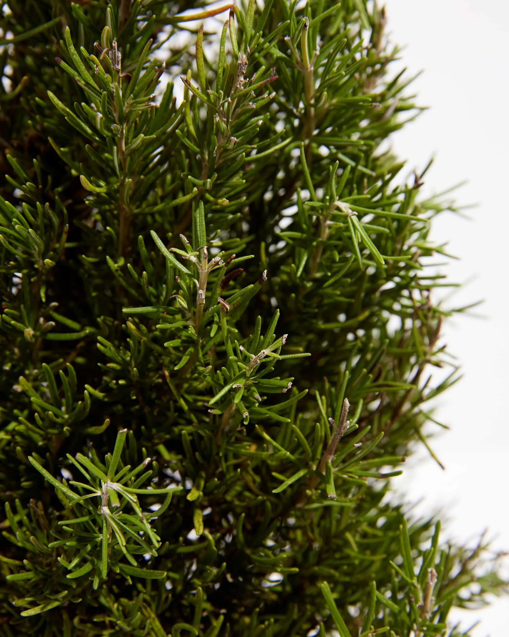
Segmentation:
{"type": "Polygon", "coordinates": [[[384,24],[2,3],[3,637],[460,637],[506,590],[387,497],[459,376],[384,24]]]}

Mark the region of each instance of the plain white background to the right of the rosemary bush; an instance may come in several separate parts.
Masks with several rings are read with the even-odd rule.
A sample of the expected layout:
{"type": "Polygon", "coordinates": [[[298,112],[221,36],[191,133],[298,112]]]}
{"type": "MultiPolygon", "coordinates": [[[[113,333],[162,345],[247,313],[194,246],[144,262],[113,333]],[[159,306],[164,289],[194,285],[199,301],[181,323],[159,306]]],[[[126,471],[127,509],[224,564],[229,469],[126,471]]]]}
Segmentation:
{"type": "MultiPolygon", "coordinates": [[[[420,105],[431,107],[396,133],[393,148],[408,159],[409,170],[422,169],[435,155],[426,194],[469,180],[455,197],[461,204],[479,204],[468,210],[472,220],[445,213],[433,238],[448,241],[449,252],[461,257],[449,269],[450,278],[469,282],[451,304],[485,299],[475,310],[485,318],[457,316],[445,325],[445,342],[464,373],[437,405],[436,417],[451,431],[431,443],[446,470],[424,450],[394,483],[408,500],[423,498],[419,512],[440,507],[449,536],[473,541],[488,527],[494,547],[509,550],[509,2],[385,4],[391,41],[406,45],[401,64],[409,75],[424,70],[411,92],[420,105]]],[[[471,633],[475,637],[509,635],[507,598],[452,617],[464,629],[481,619],[471,633]]]]}

